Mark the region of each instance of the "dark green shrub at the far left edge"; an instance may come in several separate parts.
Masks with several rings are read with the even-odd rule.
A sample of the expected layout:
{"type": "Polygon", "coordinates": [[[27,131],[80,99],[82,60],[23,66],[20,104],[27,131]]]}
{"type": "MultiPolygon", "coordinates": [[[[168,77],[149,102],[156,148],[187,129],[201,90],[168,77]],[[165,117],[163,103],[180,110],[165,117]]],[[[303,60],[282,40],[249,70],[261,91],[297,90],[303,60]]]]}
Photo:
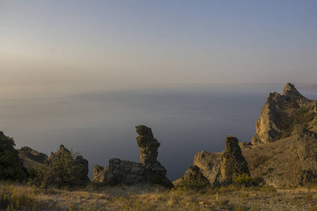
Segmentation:
{"type": "Polygon", "coordinates": [[[12,138],[0,132],[0,179],[22,181],[26,175],[19,165],[18,151],[12,138]]]}

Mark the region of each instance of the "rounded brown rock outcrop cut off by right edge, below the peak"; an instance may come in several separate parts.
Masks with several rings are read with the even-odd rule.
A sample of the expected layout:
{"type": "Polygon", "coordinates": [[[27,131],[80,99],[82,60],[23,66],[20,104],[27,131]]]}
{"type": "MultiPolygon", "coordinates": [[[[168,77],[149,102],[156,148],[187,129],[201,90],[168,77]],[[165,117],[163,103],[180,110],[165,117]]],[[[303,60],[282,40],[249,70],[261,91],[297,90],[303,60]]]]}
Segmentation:
{"type": "Polygon", "coordinates": [[[288,168],[294,185],[317,182],[317,134],[304,124],[294,127],[288,168]]]}

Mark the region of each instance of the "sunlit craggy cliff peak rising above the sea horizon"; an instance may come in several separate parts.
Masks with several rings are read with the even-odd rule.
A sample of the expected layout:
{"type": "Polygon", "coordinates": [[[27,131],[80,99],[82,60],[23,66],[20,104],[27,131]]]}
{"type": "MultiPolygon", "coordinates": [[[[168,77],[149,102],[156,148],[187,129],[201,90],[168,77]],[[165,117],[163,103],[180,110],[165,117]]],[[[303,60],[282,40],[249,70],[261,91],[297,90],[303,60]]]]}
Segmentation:
{"type": "Polygon", "coordinates": [[[286,84],[282,95],[269,94],[256,121],[256,134],[251,142],[265,144],[292,135],[295,124],[316,122],[316,101],[311,101],[297,91],[293,84],[286,84]]]}

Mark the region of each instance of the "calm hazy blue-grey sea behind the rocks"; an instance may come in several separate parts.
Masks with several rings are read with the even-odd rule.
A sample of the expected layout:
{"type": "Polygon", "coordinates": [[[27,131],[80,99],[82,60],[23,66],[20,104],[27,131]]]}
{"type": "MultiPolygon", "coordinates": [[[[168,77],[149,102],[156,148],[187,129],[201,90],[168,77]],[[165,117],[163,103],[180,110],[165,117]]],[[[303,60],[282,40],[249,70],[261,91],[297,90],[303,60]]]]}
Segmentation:
{"type": "MultiPolygon", "coordinates": [[[[158,160],[178,179],[199,151],[220,152],[228,134],[251,141],[269,92],[283,85],[94,91],[67,96],[11,96],[0,101],[0,130],[16,148],[49,155],[60,144],[95,164],[111,158],[139,161],[135,126],[151,127],[161,142],[158,160]]],[[[299,91],[311,99],[316,91],[299,91]]]]}

